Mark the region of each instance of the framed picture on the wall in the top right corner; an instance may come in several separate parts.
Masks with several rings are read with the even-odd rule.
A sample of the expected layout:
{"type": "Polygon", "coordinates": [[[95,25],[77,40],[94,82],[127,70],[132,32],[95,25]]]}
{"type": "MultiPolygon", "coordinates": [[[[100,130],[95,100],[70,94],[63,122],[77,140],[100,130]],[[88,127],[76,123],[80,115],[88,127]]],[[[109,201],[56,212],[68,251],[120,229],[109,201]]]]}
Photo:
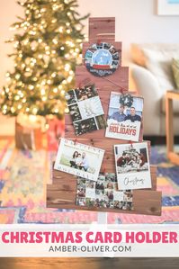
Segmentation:
{"type": "Polygon", "coordinates": [[[179,15],[179,0],[157,0],[158,15],[179,15]]]}

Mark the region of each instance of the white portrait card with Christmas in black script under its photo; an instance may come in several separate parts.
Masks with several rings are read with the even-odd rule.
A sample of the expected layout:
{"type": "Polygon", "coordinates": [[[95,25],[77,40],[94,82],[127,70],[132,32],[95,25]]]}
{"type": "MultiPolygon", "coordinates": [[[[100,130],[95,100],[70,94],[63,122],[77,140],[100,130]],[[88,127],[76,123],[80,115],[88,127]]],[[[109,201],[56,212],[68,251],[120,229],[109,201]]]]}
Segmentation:
{"type": "Polygon", "coordinates": [[[148,143],[114,145],[119,190],[151,188],[148,143]]]}

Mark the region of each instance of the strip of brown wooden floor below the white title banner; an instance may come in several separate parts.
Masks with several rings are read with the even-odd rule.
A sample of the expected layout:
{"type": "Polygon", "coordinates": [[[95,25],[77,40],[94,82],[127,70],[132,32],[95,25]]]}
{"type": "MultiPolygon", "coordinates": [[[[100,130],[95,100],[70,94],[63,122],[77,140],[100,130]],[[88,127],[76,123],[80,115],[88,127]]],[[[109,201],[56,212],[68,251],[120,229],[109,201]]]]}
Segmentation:
{"type": "Polygon", "coordinates": [[[178,269],[179,258],[0,258],[1,269],[178,269]]]}

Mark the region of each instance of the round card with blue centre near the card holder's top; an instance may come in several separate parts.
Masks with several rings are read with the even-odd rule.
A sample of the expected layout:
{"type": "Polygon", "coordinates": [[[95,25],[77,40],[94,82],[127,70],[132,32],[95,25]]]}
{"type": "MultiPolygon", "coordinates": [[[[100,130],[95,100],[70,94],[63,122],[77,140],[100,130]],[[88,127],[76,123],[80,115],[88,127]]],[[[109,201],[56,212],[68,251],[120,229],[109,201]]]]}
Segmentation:
{"type": "Polygon", "coordinates": [[[94,76],[110,76],[120,64],[119,51],[110,43],[93,44],[85,52],[85,67],[94,76]]]}

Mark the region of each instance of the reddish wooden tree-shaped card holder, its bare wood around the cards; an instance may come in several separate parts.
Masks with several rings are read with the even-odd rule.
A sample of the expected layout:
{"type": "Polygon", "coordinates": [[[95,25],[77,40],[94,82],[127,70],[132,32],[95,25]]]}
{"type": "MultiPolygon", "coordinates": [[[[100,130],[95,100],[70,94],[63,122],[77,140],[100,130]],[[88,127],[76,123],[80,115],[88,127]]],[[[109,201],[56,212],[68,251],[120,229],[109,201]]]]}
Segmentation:
{"type": "MultiPolygon", "coordinates": [[[[121,42],[115,42],[115,19],[114,18],[90,18],[89,19],[89,42],[83,46],[85,50],[93,43],[110,42],[121,51],[121,42]]],[[[103,104],[104,115],[107,118],[111,92],[127,93],[129,89],[129,67],[118,69],[107,77],[93,76],[86,67],[76,67],[76,87],[93,83],[98,89],[98,94],[103,104]]],[[[130,92],[131,93],[131,92],[130,92]]],[[[132,93],[133,94],[133,93],[132,93]]],[[[115,173],[113,145],[129,143],[127,140],[105,138],[105,130],[95,130],[76,137],[71,117],[65,117],[65,137],[76,140],[78,143],[91,145],[105,150],[101,172],[115,173]]],[[[142,141],[142,127],[139,140],[142,141]]],[[[135,142],[134,142],[135,143],[135,142]]],[[[150,153],[150,142],[148,141],[150,153]]],[[[124,211],[119,209],[101,209],[76,205],[76,176],[69,175],[52,168],[52,184],[47,186],[47,206],[58,209],[74,209],[85,211],[108,211],[131,214],[161,215],[161,192],[157,192],[157,167],[150,166],[152,188],[133,190],[134,210],[124,211]]]]}

